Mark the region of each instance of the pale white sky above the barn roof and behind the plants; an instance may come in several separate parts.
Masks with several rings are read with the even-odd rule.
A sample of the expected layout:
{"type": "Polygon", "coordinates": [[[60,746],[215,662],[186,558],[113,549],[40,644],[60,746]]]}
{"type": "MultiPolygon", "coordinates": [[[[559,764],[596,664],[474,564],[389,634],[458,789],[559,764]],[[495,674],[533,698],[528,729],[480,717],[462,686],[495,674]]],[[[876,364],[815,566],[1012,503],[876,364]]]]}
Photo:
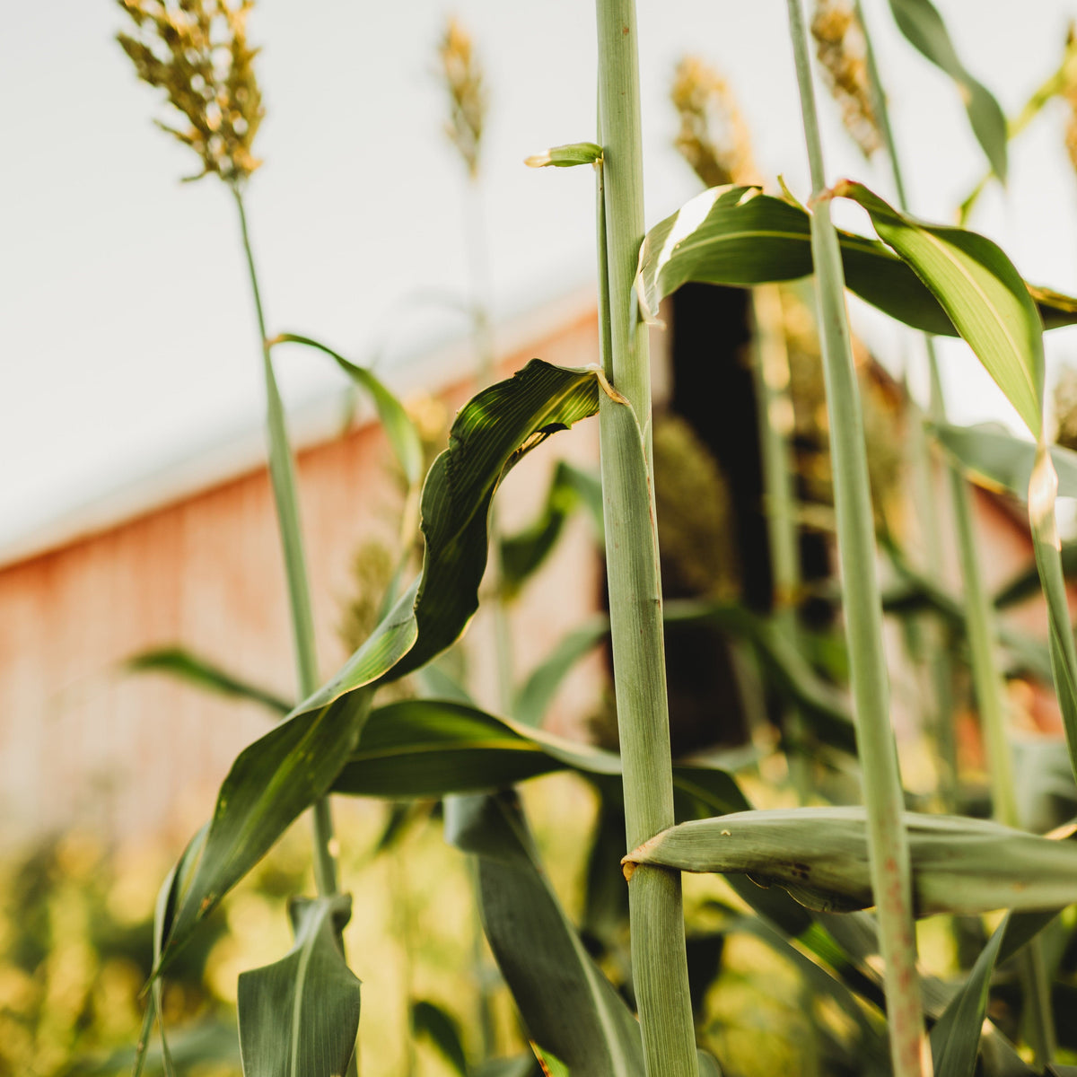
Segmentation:
{"type": "MultiPolygon", "coordinates": [[[[1057,66],[1077,2],[937,0],[965,62],[1012,114],[1057,66]]],[[[949,220],[982,171],[952,85],[867,0],[912,198],[949,220]]],[[[781,0],[640,4],[647,221],[697,185],[670,142],[677,58],[719,68],[749,117],[767,174],[806,197],[807,168],[781,0]]],[[[260,0],[252,39],[268,115],[249,211],[269,331],[290,328],[362,360],[458,335],[459,314],[418,291],[465,280],[463,178],[440,132],[434,50],[450,11],[472,29],[491,92],[485,219],[493,303],[526,309],[593,277],[589,169],[532,171],[522,158],[593,137],[595,22],[587,0],[370,4],[260,0]]],[[[107,0],[10,4],[0,39],[0,546],[87,500],[260,421],[258,345],[235,210],[196,162],[156,131],[156,95],[113,41],[107,0]]],[[[886,192],[844,138],[829,100],[828,172],[886,192]]],[[[1012,148],[1011,194],[974,226],[1024,275],[1077,292],[1077,180],[1058,102],[1012,148]]],[[[857,309],[855,313],[859,314],[857,309]]],[[[885,350],[897,333],[862,322],[885,350]]],[[[1073,331],[1049,362],[1077,363],[1073,331]]],[[[948,349],[960,420],[1005,416],[974,362],[948,349]]],[[[292,403],[339,384],[318,356],[284,353],[292,403]]]]}

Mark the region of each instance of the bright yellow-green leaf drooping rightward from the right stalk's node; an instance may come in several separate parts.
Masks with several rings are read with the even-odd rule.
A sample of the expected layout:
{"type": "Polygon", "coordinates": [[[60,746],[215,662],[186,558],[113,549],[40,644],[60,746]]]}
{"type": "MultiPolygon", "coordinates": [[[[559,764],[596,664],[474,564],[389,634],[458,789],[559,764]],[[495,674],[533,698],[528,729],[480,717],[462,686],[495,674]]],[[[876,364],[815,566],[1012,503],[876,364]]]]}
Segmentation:
{"type": "Polygon", "coordinates": [[[975,232],[923,224],[899,213],[863,184],[844,180],[834,193],[867,210],[880,239],[931,289],[1038,437],[1044,424],[1043,322],[1009,258],[975,232]]]}

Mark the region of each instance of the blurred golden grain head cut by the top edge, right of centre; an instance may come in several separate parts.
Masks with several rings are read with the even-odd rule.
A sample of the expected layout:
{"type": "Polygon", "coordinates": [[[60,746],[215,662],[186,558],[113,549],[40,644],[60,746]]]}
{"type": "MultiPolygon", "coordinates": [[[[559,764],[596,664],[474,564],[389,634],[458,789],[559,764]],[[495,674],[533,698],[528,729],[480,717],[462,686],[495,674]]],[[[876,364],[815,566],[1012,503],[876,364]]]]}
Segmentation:
{"type": "Polygon", "coordinates": [[[871,103],[864,28],[844,0],[816,0],[811,33],[827,88],[841,107],[841,123],[870,157],[882,149],[882,135],[871,103]]]}

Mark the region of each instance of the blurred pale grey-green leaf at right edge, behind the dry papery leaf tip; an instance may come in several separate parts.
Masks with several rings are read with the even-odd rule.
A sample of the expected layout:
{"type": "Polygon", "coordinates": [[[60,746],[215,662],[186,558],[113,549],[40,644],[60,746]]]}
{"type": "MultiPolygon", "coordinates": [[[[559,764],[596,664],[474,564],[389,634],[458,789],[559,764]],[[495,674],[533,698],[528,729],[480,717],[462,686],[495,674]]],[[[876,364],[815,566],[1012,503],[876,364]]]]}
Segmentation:
{"type": "MultiPolygon", "coordinates": [[[[933,425],[932,432],[957,458],[969,478],[1002,488],[1021,501],[1027,500],[1036,444],[1015,437],[998,423],[977,426],[933,425]]],[[[1077,452],[1051,446],[1051,460],[1059,476],[1059,493],[1077,498],[1077,452]]]]}

